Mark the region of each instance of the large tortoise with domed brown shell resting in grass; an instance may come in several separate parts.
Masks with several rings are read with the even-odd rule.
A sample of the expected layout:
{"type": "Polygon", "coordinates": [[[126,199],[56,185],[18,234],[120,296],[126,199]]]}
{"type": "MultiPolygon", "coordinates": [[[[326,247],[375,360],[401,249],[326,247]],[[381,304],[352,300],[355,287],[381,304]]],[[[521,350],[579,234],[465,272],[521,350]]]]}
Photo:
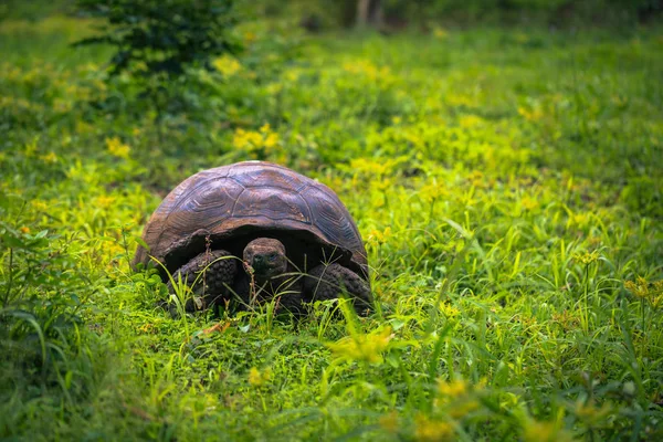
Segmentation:
{"type": "Polygon", "coordinates": [[[152,213],[143,241],[149,251],[138,246],[134,267],[154,256],[175,281],[197,281],[189,312],[275,299],[278,312],[298,315],[303,303],[341,293],[360,314],[372,305],[348,210],[328,187],[283,166],[244,161],[189,177],[152,213]]]}

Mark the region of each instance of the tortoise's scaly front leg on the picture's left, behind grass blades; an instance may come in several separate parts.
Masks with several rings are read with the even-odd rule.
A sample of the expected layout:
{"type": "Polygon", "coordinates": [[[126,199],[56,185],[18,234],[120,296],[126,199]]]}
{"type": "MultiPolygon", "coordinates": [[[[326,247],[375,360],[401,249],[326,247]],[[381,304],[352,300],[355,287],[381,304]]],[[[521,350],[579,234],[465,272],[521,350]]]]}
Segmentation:
{"type": "MultiPolygon", "coordinates": [[[[212,250],[193,257],[172,274],[172,281],[179,284],[180,280],[187,284],[193,294],[188,298],[185,309],[189,313],[208,308],[223,298],[229,297],[238,273],[236,259],[224,250],[212,250]]],[[[168,292],[175,293],[172,283],[168,281],[168,292]]],[[[169,303],[171,314],[176,314],[173,305],[169,303]]]]}

